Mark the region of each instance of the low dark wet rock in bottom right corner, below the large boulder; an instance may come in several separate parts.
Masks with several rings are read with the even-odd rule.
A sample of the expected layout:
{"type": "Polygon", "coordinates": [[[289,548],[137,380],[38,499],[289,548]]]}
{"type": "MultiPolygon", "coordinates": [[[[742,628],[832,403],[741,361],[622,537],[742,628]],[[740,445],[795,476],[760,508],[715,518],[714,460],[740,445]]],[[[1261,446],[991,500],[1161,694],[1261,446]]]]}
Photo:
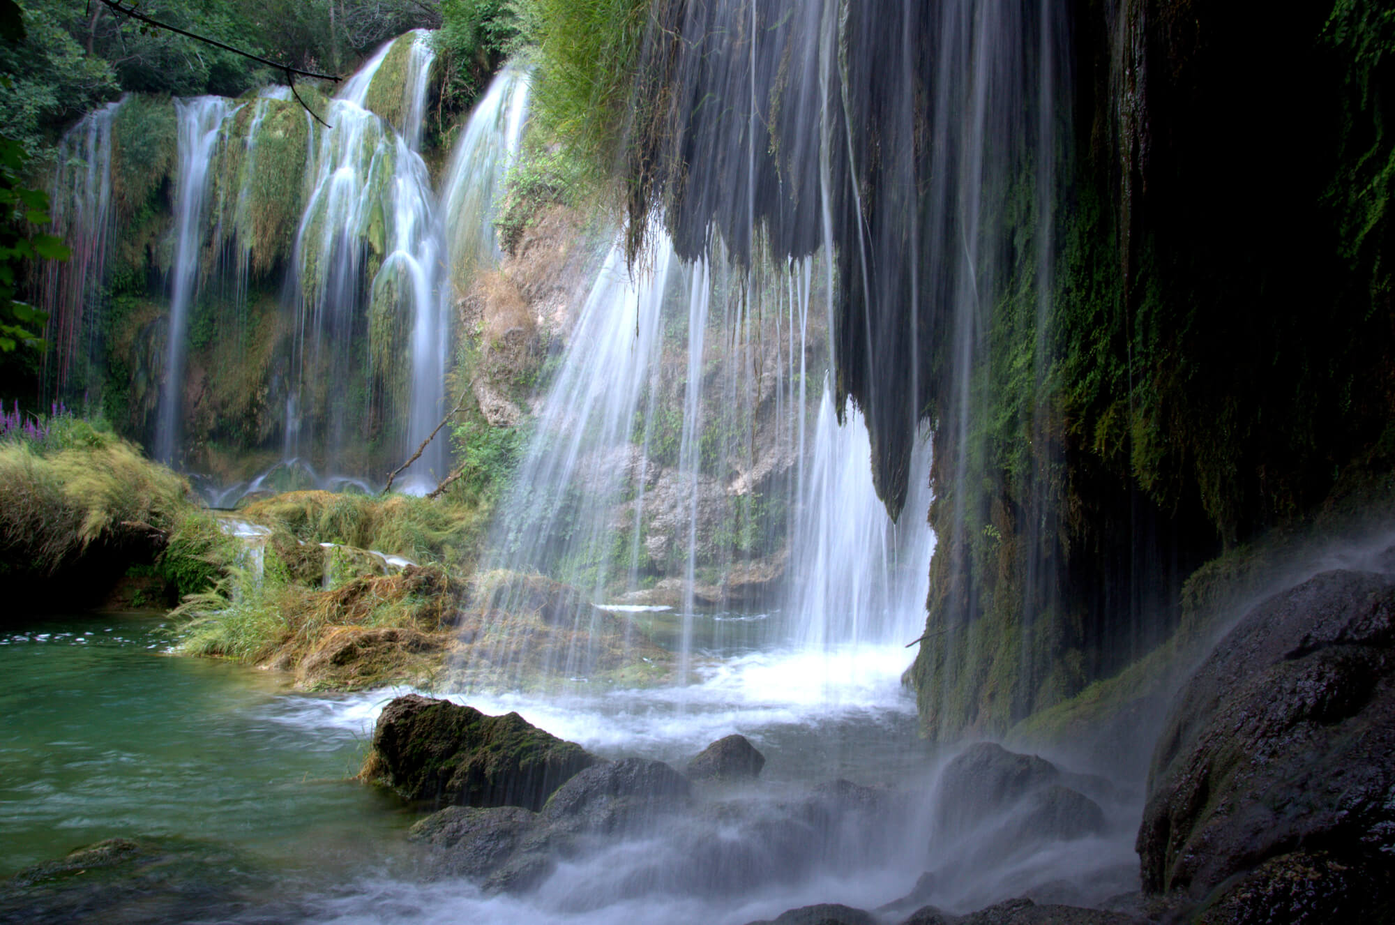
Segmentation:
{"type": "Polygon", "coordinates": [[[1395,919],[1388,871],[1353,865],[1325,851],[1269,858],[1221,886],[1197,925],[1352,925],[1395,919]]]}

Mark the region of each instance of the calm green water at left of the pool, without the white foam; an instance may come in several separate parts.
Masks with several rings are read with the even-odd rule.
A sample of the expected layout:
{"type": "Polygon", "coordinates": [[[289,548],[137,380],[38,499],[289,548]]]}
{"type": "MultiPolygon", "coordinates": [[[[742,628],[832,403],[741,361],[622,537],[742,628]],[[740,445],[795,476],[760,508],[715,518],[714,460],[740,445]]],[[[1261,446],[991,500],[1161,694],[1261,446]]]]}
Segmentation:
{"type": "Polygon", "coordinates": [[[0,878],[110,837],[194,837],[314,882],[400,859],[413,820],[347,780],[359,728],[252,668],[165,653],[158,617],[0,631],[0,878]]]}

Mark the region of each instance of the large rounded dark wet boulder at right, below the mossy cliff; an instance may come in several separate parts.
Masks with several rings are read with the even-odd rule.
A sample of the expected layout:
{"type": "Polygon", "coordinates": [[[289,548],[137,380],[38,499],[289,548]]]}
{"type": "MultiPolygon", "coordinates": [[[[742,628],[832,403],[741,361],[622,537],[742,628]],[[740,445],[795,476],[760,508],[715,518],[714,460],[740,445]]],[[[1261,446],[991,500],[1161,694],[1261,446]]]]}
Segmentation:
{"type": "Polygon", "coordinates": [[[1154,751],[1144,889],[1201,897],[1260,865],[1207,921],[1242,921],[1235,910],[1267,894],[1302,894],[1315,917],[1302,921],[1349,921],[1336,887],[1384,883],[1395,852],[1392,645],[1384,575],[1324,572],[1246,615],[1184,685],[1154,751]],[[1299,845],[1327,854],[1290,855],[1299,845]]]}

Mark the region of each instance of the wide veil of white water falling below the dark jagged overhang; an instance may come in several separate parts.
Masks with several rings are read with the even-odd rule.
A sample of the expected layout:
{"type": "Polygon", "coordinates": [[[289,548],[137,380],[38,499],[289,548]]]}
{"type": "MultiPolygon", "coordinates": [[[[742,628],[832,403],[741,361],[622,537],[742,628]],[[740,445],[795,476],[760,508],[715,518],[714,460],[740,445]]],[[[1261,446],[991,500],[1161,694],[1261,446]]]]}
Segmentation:
{"type": "MultiPolygon", "coordinates": [[[[923,515],[891,520],[861,416],[836,414],[823,258],[744,269],[718,246],[688,262],[654,236],[633,275],[618,246],[605,257],[481,572],[580,590],[564,619],[580,642],[552,671],[585,664],[591,604],[672,608],[681,679],[738,636],[790,653],[893,646],[900,671],[923,622],[932,537],[923,515]],[[810,303],[824,310],[810,317],[810,303]]],[[[928,441],[914,467],[923,511],[928,441]]],[[[512,580],[502,614],[534,593],[512,580]]],[[[527,684],[529,631],[498,619],[478,660],[527,684]]]]}

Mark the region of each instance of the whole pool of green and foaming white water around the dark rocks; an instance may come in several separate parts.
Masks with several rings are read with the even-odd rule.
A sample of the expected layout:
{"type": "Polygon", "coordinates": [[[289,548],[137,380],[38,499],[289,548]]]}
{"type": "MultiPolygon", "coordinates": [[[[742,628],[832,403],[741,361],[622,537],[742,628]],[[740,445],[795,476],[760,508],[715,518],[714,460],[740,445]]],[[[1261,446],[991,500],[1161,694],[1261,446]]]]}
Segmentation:
{"type": "MultiPolygon", "coordinates": [[[[349,780],[378,712],[405,691],[299,693],[275,674],[170,656],[172,642],[165,621],[148,615],[35,619],[0,633],[4,714],[25,717],[0,737],[0,873],[103,838],[137,837],[202,845],[226,858],[213,862],[218,871],[251,876],[199,892],[206,903],[184,896],[152,905],[144,897],[105,907],[92,921],[742,925],[813,901],[876,907],[908,893],[930,862],[921,840],[894,864],[820,866],[741,892],[626,885],[626,869],[678,850],[677,833],[660,833],[564,862],[533,893],[487,897],[467,880],[441,876],[406,840],[421,811],[349,780]]],[[[576,684],[548,699],[451,699],[487,713],[518,710],[605,758],[679,767],[710,741],[741,732],[766,755],[766,767],[757,783],[710,797],[745,801],[759,815],[840,777],[928,791],[935,762],[898,681],[905,661],[900,647],[728,645],[703,649],[686,686],[576,684]]]]}

